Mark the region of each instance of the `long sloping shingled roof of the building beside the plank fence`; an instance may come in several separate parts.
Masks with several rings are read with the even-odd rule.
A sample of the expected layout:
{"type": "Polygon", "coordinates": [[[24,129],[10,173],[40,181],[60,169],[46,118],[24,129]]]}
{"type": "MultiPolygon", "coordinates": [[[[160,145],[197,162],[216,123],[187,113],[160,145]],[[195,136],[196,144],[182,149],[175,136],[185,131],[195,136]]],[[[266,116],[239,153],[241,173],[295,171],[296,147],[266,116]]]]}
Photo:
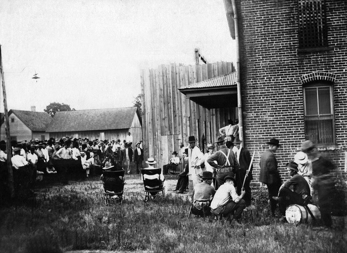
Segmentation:
{"type": "Polygon", "coordinates": [[[129,129],[136,107],[56,112],[46,132],[129,129]]]}

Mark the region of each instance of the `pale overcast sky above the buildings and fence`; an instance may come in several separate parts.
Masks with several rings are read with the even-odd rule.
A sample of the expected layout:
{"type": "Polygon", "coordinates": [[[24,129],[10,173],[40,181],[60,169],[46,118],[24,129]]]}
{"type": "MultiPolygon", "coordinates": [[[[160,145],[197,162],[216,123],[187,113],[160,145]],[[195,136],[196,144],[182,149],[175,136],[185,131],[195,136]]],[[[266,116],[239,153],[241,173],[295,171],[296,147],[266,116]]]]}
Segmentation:
{"type": "Polygon", "coordinates": [[[140,69],[235,59],[222,0],[2,0],[0,44],[9,110],[128,107],[140,69]]]}

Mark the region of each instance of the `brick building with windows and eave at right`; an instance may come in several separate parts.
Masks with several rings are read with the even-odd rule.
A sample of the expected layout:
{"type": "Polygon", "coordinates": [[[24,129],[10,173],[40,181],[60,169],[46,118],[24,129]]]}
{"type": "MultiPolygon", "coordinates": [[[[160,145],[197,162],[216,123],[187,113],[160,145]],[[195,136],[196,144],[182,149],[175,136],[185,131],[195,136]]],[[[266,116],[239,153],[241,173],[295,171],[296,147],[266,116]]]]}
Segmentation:
{"type": "Polygon", "coordinates": [[[244,145],[258,151],[255,179],[270,138],[282,144],[283,176],[307,139],[343,170],[347,1],[225,0],[225,7],[238,45],[244,145]]]}

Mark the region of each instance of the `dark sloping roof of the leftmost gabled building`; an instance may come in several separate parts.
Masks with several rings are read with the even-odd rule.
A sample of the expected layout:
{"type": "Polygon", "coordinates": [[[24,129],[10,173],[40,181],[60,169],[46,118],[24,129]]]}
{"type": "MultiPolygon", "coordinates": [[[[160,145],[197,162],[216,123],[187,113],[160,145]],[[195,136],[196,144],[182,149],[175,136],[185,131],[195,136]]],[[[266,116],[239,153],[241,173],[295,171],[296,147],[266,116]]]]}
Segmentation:
{"type": "Polygon", "coordinates": [[[10,110],[9,116],[12,113],[28,126],[31,131],[45,132],[47,125],[52,121],[52,117],[46,112],[10,110]]]}

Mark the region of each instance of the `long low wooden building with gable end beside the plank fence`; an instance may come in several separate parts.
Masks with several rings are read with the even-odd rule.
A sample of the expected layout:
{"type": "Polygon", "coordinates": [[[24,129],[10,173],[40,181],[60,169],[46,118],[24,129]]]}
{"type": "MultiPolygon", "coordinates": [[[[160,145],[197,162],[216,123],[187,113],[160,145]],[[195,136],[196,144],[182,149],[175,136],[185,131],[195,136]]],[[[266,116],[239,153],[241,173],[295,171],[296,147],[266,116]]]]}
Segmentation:
{"type": "Polygon", "coordinates": [[[69,136],[121,141],[130,132],[133,146],[142,139],[141,117],[136,107],[56,112],[46,131],[56,139],[69,136]]]}

